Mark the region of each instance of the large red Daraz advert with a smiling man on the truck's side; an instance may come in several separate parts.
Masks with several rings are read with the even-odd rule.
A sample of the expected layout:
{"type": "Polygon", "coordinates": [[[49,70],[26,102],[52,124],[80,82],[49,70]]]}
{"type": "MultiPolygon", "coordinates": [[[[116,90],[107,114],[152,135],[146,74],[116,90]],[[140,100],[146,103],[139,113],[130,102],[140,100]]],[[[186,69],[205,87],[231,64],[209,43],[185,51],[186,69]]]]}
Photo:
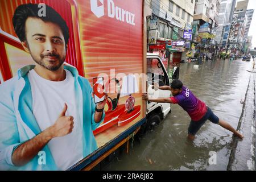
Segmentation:
{"type": "Polygon", "coordinates": [[[141,121],[142,6],[0,1],[0,169],[68,169],[141,121]]]}

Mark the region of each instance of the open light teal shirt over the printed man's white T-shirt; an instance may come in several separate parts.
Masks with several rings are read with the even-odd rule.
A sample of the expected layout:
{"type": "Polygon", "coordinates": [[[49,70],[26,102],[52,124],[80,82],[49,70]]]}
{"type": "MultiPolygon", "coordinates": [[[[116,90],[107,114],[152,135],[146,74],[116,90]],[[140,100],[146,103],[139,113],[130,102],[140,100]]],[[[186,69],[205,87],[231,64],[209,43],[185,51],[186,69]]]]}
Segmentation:
{"type": "MultiPolygon", "coordinates": [[[[16,147],[42,132],[33,115],[31,86],[27,76],[34,67],[35,65],[27,65],[19,69],[17,76],[0,85],[0,169],[2,170],[58,170],[47,145],[41,150],[46,154],[46,164],[39,162],[39,155],[22,167],[14,166],[11,160],[16,147]]],[[[70,71],[75,78],[77,111],[82,120],[81,150],[85,157],[97,149],[93,130],[104,120],[105,113],[100,122],[94,121],[95,104],[89,81],[79,76],[74,67],[64,66],[64,69],[70,71]]]]}

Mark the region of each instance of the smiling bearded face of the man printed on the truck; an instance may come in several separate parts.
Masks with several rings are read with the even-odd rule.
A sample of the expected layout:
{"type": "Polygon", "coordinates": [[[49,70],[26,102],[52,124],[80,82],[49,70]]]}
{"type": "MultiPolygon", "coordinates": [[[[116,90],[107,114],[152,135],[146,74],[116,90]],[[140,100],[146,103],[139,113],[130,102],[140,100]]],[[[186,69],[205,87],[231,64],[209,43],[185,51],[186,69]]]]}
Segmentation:
{"type": "Polygon", "coordinates": [[[26,42],[23,46],[32,59],[50,71],[57,71],[66,56],[65,39],[61,28],[39,18],[26,20],[26,42]]]}

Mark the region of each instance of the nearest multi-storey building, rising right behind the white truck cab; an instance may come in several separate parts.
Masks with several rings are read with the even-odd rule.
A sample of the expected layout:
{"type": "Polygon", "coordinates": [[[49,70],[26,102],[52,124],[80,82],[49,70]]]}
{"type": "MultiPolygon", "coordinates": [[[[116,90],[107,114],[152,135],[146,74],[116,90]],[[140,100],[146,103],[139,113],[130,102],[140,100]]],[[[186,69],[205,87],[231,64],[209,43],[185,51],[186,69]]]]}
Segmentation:
{"type": "Polygon", "coordinates": [[[179,54],[180,57],[182,54],[185,59],[186,48],[189,49],[192,46],[185,36],[192,34],[190,32],[192,31],[195,0],[146,0],[145,3],[152,11],[148,43],[157,44],[171,40],[170,51],[174,51],[174,55],[179,54]],[[185,40],[188,42],[186,43],[185,40]]]}

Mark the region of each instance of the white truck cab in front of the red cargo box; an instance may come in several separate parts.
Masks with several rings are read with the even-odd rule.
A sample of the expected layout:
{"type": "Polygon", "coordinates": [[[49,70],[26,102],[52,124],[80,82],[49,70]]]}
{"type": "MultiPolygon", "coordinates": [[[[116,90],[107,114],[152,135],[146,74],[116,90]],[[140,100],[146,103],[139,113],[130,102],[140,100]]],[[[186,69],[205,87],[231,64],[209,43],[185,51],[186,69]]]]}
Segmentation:
{"type": "MultiPolygon", "coordinates": [[[[154,83],[159,86],[170,86],[170,78],[158,54],[147,53],[147,93],[149,97],[170,97],[170,90],[155,90],[154,83]]],[[[147,101],[146,130],[151,130],[171,112],[169,103],[147,101]]]]}

